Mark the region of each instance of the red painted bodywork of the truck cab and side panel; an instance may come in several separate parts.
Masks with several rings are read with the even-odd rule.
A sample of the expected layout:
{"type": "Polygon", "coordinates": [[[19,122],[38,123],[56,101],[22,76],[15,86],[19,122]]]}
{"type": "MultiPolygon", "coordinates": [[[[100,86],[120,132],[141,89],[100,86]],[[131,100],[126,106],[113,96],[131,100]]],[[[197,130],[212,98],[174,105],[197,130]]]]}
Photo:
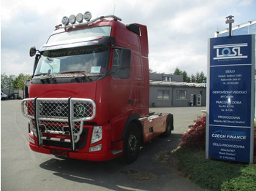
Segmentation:
{"type": "MultiPolygon", "coordinates": [[[[97,21],[92,26],[112,26],[111,36],[116,38],[117,47],[125,47],[132,50],[132,63],[129,79],[113,78],[112,75],[96,82],[72,83],[72,84],[42,84],[30,85],[29,96],[31,98],[89,98],[97,106],[97,113],[93,120],[97,125],[102,125],[102,141],[90,144],[92,125],[84,125],[87,128],[88,137],[86,147],[69,152],[69,157],[82,160],[110,160],[118,157],[122,152],[113,155],[111,151],[123,149],[123,132],[128,117],[131,114],[139,114],[140,117],[148,115],[149,104],[149,73],[148,73],[148,36],[146,26],[140,26],[141,35],[129,31],[124,24],[114,20],[97,21]],[[129,104],[132,100],[132,104],[129,104]],[[89,147],[102,144],[102,149],[97,152],[89,152],[89,147]]],[[[87,27],[87,26],[83,26],[87,27]]],[[[66,31],[75,30],[74,28],[66,31]]],[[[63,32],[64,29],[54,31],[53,34],[63,32]]],[[[108,69],[111,70],[113,62],[113,50],[110,51],[108,69]]],[[[149,141],[165,131],[166,115],[158,117],[153,121],[145,120],[143,125],[143,141],[149,141]],[[154,133],[149,134],[149,128],[154,127],[154,133]]],[[[29,133],[29,136],[31,134],[29,133]]],[[[31,137],[34,139],[34,137],[31,137]]],[[[37,147],[29,142],[29,146],[35,152],[50,154],[50,149],[70,149],[56,147],[37,147]]]]}

